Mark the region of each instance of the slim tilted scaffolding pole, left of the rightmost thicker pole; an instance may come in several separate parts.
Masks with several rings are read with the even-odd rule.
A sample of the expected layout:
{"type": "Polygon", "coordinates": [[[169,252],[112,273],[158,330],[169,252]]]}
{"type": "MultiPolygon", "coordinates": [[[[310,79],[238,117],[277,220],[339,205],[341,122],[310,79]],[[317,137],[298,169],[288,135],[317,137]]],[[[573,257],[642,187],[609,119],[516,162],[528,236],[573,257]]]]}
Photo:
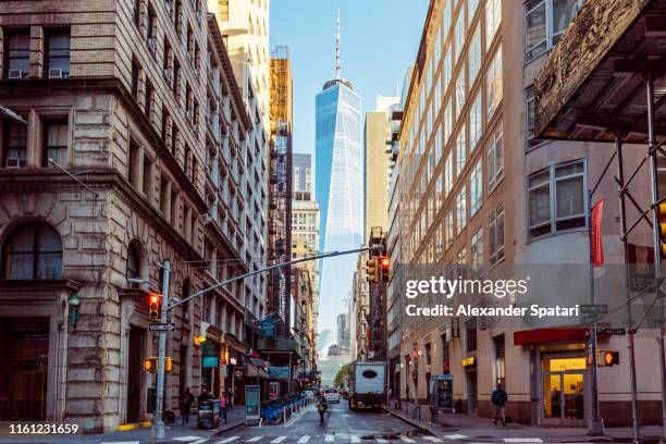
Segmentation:
{"type": "Polygon", "coordinates": [[[627,207],[625,202],[625,163],[622,158],[622,138],[621,135],[615,134],[615,157],[617,158],[617,185],[619,187],[619,205],[620,205],[620,233],[622,242],[622,255],[625,258],[625,291],[627,293],[627,316],[628,316],[628,335],[627,341],[629,342],[627,348],[629,348],[629,378],[631,382],[631,423],[633,425],[633,441],[632,444],[639,443],[639,436],[641,433],[639,417],[638,417],[638,390],[636,384],[636,349],[633,347],[633,320],[631,317],[631,287],[630,287],[630,272],[629,272],[629,251],[627,248],[627,207]]]}

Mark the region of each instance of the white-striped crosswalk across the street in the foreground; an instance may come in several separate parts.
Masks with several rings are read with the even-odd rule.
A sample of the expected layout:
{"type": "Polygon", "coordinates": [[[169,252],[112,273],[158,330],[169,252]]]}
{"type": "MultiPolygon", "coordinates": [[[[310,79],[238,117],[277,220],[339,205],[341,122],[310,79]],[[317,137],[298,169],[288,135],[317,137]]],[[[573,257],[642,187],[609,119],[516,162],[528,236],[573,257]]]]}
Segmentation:
{"type": "MultiPolygon", "coordinates": [[[[486,436],[484,436],[486,437],[486,436]]],[[[466,443],[466,444],[515,444],[515,443],[543,443],[544,441],[540,437],[493,437],[491,440],[478,440],[474,436],[469,436],[460,433],[445,434],[442,436],[427,436],[427,435],[359,435],[359,434],[347,434],[347,433],[322,433],[316,435],[308,434],[293,434],[293,435],[257,435],[257,436],[217,436],[217,437],[201,437],[201,436],[178,436],[170,440],[175,443],[184,444],[240,444],[240,443],[255,443],[255,444],[316,444],[316,443],[336,443],[336,444],[431,444],[431,443],[466,443]]],[[[107,444],[120,444],[107,443],[107,444]]],[[[133,442],[126,442],[126,444],[134,444],[133,442]]],[[[138,444],[138,442],[136,443],[138,444]]],[[[581,443],[566,443],[566,444],[581,444],[581,443]]]]}

